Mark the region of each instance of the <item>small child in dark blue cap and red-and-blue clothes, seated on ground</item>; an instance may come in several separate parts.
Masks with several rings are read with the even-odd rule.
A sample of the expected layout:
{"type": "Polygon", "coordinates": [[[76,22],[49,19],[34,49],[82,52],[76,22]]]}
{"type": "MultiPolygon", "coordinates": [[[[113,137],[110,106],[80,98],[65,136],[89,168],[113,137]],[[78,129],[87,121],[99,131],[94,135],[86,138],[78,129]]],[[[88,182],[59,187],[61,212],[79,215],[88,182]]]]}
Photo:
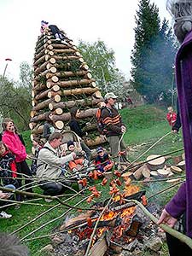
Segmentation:
{"type": "Polygon", "coordinates": [[[109,160],[108,153],[104,152],[104,149],[102,147],[96,148],[96,170],[100,172],[108,172],[111,171],[113,168],[113,161],[109,160]]]}

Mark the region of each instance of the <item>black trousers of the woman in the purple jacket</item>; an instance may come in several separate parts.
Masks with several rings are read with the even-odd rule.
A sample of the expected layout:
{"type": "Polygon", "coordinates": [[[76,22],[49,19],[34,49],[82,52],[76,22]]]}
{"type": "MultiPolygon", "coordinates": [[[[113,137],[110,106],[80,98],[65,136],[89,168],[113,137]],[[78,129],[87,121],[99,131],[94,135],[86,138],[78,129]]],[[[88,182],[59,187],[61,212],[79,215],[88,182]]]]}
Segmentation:
{"type": "Polygon", "coordinates": [[[170,256],[192,256],[192,249],[174,236],[166,233],[166,241],[169,247],[170,256]]]}

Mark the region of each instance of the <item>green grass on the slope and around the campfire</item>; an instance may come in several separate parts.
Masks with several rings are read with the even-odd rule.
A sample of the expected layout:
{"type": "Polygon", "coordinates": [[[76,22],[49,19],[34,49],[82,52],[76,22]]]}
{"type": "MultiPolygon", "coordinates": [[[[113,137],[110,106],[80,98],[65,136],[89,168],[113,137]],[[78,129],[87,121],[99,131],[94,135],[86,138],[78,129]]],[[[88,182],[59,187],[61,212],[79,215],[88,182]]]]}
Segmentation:
{"type": "MultiPolygon", "coordinates": [[[[166,121],[166,112],[155,106],[142,106],[138,108],[123,109],[121,111],[122,118],[125,125],[127,126],[127,132],[125,133],[125,143],[129,147],[129,159],[135,160],[138,155],[143,154],[150,146],[157,142],[160,137],[163,137],[166,133],[171,131],[170,126],[166,121]]],[[[30,142],[30,131],[23,132],[23,137],[26,142],[26,150],[29,153],[31,151],[31,142],[30,142]]],[[[165,137],[160,143],[158,143],[154,148],[152,148],[148,154],[143,155],[141,160],[145,160],[149,154],[166,154],[176,150],[177,148],[183,148],[183,142],[181,140],[181,135],[178,137],[176,135],[169,135],[165,137]]],[[[177,153],[181,154],[181,153],[177,153]]],[[[160,189],[166,188],[168,185],[166,183],[150,183],[146,189],[147,195],[154,195],[160,189]]],[[[77,188],[76,188],[77,189],[77,188]]],[[[99,186],[98,188],[102,191],[102,198],[99,198],[99,201],[104,201],[109,197],[108,187],[99,186]]],[[[155,196],[152,201],[159,202],[161,206],[165,205],[167,201],[174,195],[176,189],[168,191],[162,195],[155,196]]],[[[35,189],[35,192],[40,193],[40,189],[35,189]]],[[[71,193],[67,191],[67,193],[71,193]]],[[[67,198],[67,197],[66,197],[67,198]]],[[[79,199],[70,201],[71,205],[74,205],[79,199]]],[[[43,201],[38,201],[39,203],[43,201]]],[[[52,203],[51,203],[52,204],[52,203]]],[[[54,202],[55,204],[55,202],[54,202]]],[[[86,203],[82,203],[81,207],[87,207],[86,203]]],[[[13,218],[10,219],[0,219],[1,231],[12,232],[26,224],[28,221],[32,220],[38,216],[41,212],[47,210],[48,207],[37,207],[37,206],[21,206],[20,209],[16,210],[15,207],[9,207],[7,210],[9,213],[13,214],[13,218]]],[[[37,229],[42,224],[48,222],[50,219],[61,216],[61,214],[66,211],[64,207],[58,207],[55,211],[49,212],[49,214],[44,215],[43,218],[39,218],[30,226],[27,226],[25,229],[21,230],[18,235],[20,238],[26,236],[32,230],[37,229]]],[[[77,211],[72,211],[70,214],[75,214],[77,211]]],[[[38,230],[34,236],[44,236],[50,234],[55,227],[61,224],[64,218],[61,218],[55,221],[52,224],[47,225],[44,229],[38,230]]],[[[29,236],[31,238],[32,236],[29,236]]],[[[43,253],[40,252],[40,249],[49,243],[49,239],[34,240],[31,242],[26,242],[26,245],[30,247],[31,253],[34,256],[42,256],[43,253]]],[[[165,254],[167,255],[167,248],[165,245],[164,248],[165,254]]],[[[44,254],[46,256],[48,254],[44,254]]],[[[148,255],[144,253],[143,255],[148,255]]]]}

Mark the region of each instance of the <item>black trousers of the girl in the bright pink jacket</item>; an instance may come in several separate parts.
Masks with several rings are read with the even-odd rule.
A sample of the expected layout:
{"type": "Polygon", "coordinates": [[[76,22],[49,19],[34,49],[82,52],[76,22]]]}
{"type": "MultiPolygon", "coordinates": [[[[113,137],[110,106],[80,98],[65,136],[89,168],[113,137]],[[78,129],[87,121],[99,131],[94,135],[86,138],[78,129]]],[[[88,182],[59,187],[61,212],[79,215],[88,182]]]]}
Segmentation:
{"type": "MultiPolygon", "coordinates": [[[[19,174],[18,177],[21,177],[21,174],[26,174],[27,176],[32,177],[32,172],[31,172],[29,166],[26,164],[26,160],[24,160],[20,163],[16,163],[16,166],[17,166],[17,172],[19,174]]],[[[32,179],[29,179],[29,177],[26,177],[26,178],[24,177],[24,179],[25,179],[26,191],[32,193],[32,188],[27,189],[27,187],[32,186],[32,184],[30,184],[30,183],[32,183],[32,179]]],[[[19,179],[18,182],[21,187],[22,186],[21,179],[19,179]]]]}

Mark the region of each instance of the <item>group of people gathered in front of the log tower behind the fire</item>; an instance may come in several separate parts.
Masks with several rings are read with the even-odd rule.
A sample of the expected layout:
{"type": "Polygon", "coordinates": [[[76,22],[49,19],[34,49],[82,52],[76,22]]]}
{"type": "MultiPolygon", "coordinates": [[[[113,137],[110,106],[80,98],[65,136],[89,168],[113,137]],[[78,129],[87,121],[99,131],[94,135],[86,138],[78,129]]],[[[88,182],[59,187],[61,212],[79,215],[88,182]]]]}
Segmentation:
{"type": "MultiPolygon", "coordinates": [[[[125,132],[125,125],[121,121],[120,114],[114,107],[117,96],[107,93],[102,102],[102,120],[105,127],[105,135],[108,139],[111,153],[108,154],[101,146],[96,148],[96,154],[91,156],[91,150],[84,143],[83,125],[79,122],[79,108],[71,108],[69,127],[79,138],[79,144],[72,140],[67,141],[67,147],[63,148],[65,133],[56,131],[52,119],[52,113],[46,115],[43,138],[36,137],[32,141],[34,148],[33,156],[26,154],[25,143],[18,133],[12,119],[3,119],[3,134],[0,142],[0,177],[4,188],[25,189],[32,192],[33,177],[38,179],[38,185],[44,195],[61,195],[67,186],[71,186],[67,177],[78,177],[81,170],[96,169],[102,175],[113,168],[117,160],[119,150],[125,151],[125,144],[121,140],[125,132]],[[29,167],[26,159],[32,158],[29,167]],[[91,169],[92,168],[92,169],[91,169]]],[[[125,160],[125,159],[124,159],[125,160]]],[[[13,199],[14,195],[1,191],[0,198],[13,199]]],[[[29,199],[29,196],[15,196],[16,201],[29,199]]],[[[45,201],[50,201],[45,199],[45,201]]],[[[6,205],[5,205],[6,207],[6,205]]],[[[11,218],[11,214],[0,213],[0,218],[11,218]]]]}

